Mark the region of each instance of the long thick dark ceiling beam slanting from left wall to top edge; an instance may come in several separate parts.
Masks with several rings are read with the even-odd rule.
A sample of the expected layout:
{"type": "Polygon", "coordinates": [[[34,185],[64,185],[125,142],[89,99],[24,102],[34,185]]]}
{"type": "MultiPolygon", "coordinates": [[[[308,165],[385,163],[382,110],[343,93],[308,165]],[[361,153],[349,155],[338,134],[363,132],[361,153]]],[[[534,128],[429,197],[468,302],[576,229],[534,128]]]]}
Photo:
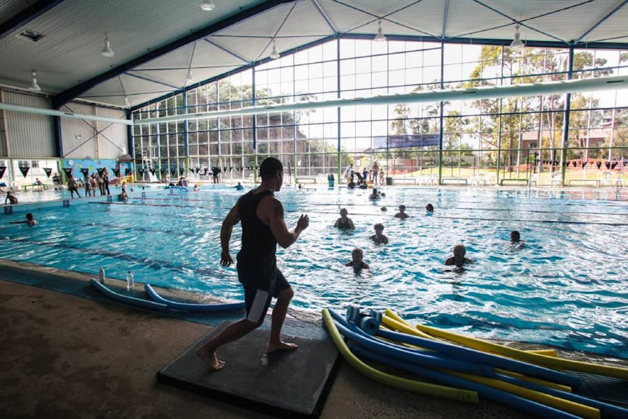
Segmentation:
{"type": "Polygon", "coordinates": [[[96,84],[100,84],[105,82],[106,80],[110,80],[117,75],[124,73],[129,70],[133,70],[133,68],[137,66],[141,66],[142,64],[146,64],[148,61],[152,59],[156,59],[161,57],[168,52],[172,52],[177,50],[180,47],[188,45],[189,43],[193,43],[198,41],[205,36],[211,35],[214,32],[221,31],[225,28],[228,28],[234,24],[239,22],[243,22],[244,20],[249,19],[255,15],[259,15],[260,13],[264,13],[265,11],[275,8],[284,3],[291,3],[293,0],[267,0],[263,3],[258,4],[257,6],[253,6],[246,10],[241,11],[235,15],[227,17],[226,19],[220,20],[220,22],[216,22],[214,24],[210,24],[203,29],[199,29],[198,31],[192,32],[191,34],[184,36],[183,38],[177,39],[177,41],[173,41],[163,47],[159,47],[156,50],[152,50],[147,52],[147,54],[143,54],[140,57],[127,61],[124,64],[121,64],[117,67],[112,68],[110,71],[97,75],[94,78],[86,80],[80,84],[77,84],[74,87],[70,87],[70,89],[66,89],[61,91],[61,93],[54,96],[52,99],[52,105],[54,108],[60,108],[64,103],[71,101],[73,98],[80,96],[84,92],[88,91],[92,87],[96,86],[96,84]]]}

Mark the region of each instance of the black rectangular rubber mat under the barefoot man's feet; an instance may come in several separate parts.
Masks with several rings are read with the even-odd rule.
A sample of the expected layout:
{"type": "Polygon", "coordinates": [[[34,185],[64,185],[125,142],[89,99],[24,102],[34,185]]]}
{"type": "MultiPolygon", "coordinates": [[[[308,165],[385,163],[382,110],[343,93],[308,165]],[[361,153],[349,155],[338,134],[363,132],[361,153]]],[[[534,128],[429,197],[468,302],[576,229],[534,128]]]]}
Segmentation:
{"type": "Polygon", "coordinates": [[[257,329],[221,346],[218,357],[226,365],[212,372],[196,350],[229,323],[221,323],[177,356],[158,372],[159,381],[274,416],[316,418],[336,374],[334,343],[293,337],[286,340],[299,345],[296,351],[264,357],[269,332],[257,329]]]}

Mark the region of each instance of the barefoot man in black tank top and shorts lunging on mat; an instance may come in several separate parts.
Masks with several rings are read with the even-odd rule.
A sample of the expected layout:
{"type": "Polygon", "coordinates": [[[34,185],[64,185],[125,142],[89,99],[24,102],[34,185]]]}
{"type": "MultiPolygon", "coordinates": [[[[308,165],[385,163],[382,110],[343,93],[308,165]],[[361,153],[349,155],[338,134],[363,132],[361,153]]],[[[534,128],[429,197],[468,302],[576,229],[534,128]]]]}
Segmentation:
{"type": "Polygon", "coordinates": [[[274,157],[264,159],[260,176],[260,186],[239,198],[220,229],[220,246],[223,249],[220,265],[229,266],[233,263],[229,253],[233,226],[240,221],[242,223],[242,247],[237,255],[237,268],[238,279],[244,287],[246,318],[227,326],[196,351],[214,371],[225,366],[224,361],[218,360],[216,349],[262,325],[272,297],[276,297],[277,301],[272,314],[267,353],[297,348],[297,345],[281,340],[281,326],[294,293],[277,269],[275,251],[277,244],[285,249],[296,242],[310,221],[307,215],[301,215],[293,231],[285,225],[283,205],[274,196],[274,192],[279,191],[283,184],[281,161],[274,157]]]}

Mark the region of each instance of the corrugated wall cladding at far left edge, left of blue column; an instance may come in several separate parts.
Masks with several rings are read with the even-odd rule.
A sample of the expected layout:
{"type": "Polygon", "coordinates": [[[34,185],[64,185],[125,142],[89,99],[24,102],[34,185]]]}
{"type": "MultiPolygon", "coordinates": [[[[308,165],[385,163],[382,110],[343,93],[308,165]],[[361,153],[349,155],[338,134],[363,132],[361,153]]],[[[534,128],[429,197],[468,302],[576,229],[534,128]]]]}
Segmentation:
{"type": "MultiPolygon", "coordinates": [[[[50,108],[49,98],[13,91],[3,91],[5,103],[30,106],[31,108],[50,108]]],[[[39,159],[56,157],[54,146],[54,127],[52,117],[25,112],[4,112],[6,118],[6,139],[8,149],[5,155],[19,159],[39,159]]]]}

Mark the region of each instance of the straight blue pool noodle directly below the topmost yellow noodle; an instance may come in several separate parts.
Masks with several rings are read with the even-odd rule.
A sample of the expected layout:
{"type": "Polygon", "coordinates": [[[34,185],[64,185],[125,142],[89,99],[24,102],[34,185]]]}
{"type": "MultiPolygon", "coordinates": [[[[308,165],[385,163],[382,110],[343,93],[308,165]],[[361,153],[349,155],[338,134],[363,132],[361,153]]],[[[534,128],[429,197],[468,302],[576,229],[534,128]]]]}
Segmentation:
{"type": "Polygon", "coordinates": [[[554,381],[569,387],[580,387],[582,380],[578,376],[566,374],[565,372],[556,371],[555,369],[540,367],[539,365],[530,364],[519,360],[513,360],[491,353],[477,351],[476,349],[464,348],[448,344],[442,341],[426,339],[424,337],[406,335],[405,333],[391,332],[390,330],[377,330],[377,335],[385,339],[401,341],[406,344],[421,346],[421,348],[433,349],[440,353],[455,357],[457,360],[465,360],[467,362],[482,362],[492,365],[493,367],[508,369],[509,371],[518,372],[528,376],[543,378],[545,380],[554,381]]]}

